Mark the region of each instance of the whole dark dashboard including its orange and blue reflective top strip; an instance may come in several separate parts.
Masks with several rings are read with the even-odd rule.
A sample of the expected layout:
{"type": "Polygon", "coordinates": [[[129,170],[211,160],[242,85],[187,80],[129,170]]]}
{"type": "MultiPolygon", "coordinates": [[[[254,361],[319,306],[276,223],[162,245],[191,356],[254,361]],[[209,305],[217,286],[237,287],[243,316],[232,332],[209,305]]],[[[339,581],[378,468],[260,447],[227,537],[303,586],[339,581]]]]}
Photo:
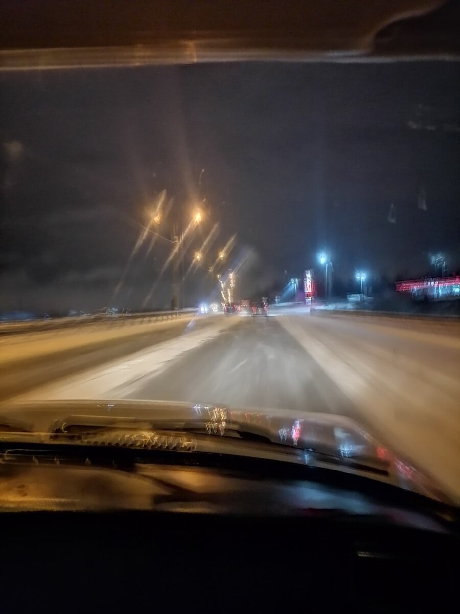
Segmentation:
{"type": "Polygon", "coordinates": [[[52,610],[90,611],[308,602],[445,612],[454,602],[458,515],[412,492],[226,455],[24,448],[1,466],[25,509],[35,493],[33,513],[18,503],[2,515],[6,612],[35,607],[37,596],[52,610]],[[153,488],[142,510],[138,478],[153,488]]]}

